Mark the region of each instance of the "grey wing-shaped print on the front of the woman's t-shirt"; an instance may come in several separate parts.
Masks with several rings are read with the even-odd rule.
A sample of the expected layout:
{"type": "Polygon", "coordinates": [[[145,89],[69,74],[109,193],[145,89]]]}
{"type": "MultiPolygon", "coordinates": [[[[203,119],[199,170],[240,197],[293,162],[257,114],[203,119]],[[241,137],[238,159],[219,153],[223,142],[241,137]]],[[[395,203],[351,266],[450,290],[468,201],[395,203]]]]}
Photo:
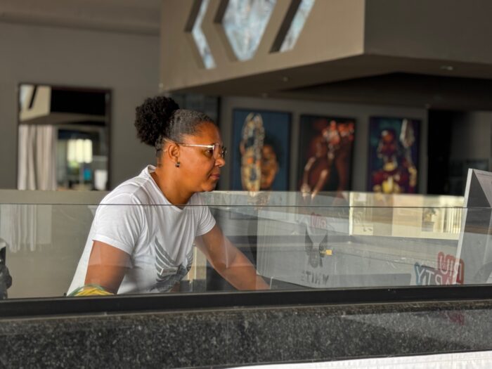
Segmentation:
{"type": "Polygon", "coordinates": [[[159,292],[167,292],[178,283],[188,273],[193,263],[193,247],[186,255],[186,265],[179,264],[172,259],[171,256],[164,250],[157,237],[155,238],[155,269],[157,278],[155,286],[151,290],[159,292]]]}

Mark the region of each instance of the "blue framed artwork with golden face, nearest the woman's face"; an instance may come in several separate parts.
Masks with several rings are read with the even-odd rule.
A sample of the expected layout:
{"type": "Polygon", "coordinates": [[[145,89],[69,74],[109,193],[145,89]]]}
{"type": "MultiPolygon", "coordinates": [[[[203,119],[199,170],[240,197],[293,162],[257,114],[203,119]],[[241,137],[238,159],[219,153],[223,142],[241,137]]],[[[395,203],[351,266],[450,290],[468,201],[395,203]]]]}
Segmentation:
{"type": "Polygon", "coordinates": [[[231,190],[288,190],[289,112],[234,109],[231,190]]]}

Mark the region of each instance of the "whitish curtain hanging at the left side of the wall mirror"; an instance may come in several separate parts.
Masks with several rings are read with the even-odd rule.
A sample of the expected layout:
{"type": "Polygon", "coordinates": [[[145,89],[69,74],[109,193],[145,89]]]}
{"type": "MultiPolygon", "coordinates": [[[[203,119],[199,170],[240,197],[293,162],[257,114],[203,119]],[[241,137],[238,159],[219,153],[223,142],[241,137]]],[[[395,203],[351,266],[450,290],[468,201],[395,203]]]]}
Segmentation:
{"type": "Polygon", "coordinates": [[[19,190],[56,190],[57,134],[51,125],[19,125],[19,190]]]}

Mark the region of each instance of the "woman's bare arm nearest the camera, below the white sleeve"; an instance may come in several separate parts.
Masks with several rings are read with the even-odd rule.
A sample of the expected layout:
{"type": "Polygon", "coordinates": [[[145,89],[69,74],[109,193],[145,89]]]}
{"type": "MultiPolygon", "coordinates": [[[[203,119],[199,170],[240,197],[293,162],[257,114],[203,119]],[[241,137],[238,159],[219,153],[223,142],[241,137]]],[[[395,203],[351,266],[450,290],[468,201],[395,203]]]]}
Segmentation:
{"type": "Polygon", "coordinates": [[[85,284],[100,285],[108,292],[117,293],[129,267],[129,254],[107,243],[94,241],[85,284]]]}

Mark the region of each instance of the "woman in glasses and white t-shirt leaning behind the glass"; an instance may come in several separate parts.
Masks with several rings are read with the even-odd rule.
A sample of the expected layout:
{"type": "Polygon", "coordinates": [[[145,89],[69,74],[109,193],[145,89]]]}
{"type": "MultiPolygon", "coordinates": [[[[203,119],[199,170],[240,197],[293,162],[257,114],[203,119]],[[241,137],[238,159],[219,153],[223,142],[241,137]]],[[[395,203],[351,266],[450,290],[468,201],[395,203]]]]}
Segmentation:
{"type": "Polygon", "coordinates": [[[157,96],[136,108],[135,126],[138,138],[155,147],[157,167],[103,199],[69,294],[167,292],[188,273],[195,241],[234,287],[268,288],[200,198],[214,190],[226,164],[212,119],[157,96]]]}

